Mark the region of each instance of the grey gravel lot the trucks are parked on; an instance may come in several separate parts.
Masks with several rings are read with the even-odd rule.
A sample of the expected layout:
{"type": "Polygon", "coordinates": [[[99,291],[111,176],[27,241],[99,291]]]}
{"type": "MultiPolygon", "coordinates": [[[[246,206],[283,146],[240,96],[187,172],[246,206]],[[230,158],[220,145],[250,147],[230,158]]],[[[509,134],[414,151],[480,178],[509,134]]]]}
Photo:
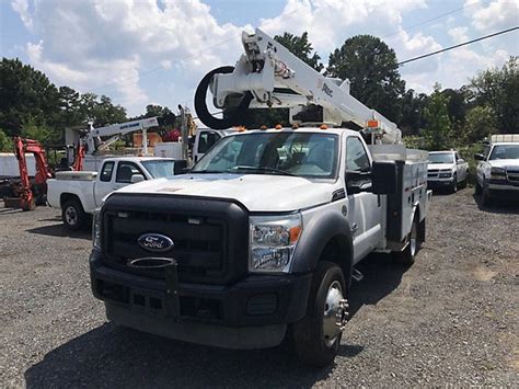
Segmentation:
{"type": "Polygon", "coordinates": [[[387,255],[360,266],[341,355],[323,370],[285,346],[218,350],[105,322],[90,233],[66,232],[58,216],[0,208],[0,387],[519,385],[517,205],[435,195],[413,267],[387,255]]]}

